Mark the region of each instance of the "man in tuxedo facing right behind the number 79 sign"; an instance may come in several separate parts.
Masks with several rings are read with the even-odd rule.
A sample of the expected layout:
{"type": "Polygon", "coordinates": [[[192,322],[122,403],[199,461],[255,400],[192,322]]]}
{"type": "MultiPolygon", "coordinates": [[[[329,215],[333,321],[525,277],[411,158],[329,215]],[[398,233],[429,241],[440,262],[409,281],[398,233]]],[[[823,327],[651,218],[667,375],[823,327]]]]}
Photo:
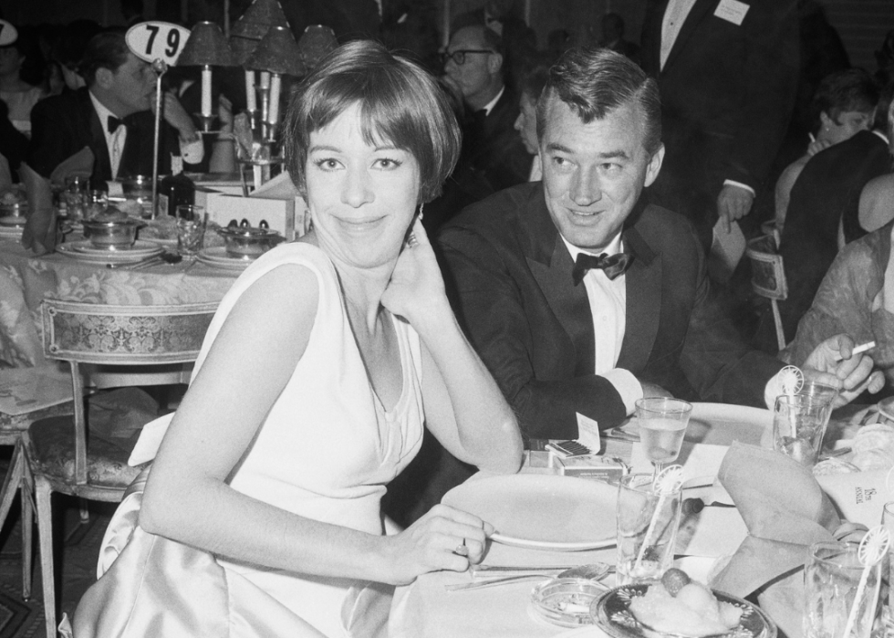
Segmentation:
{"type": "MultiPolygon", "coordinates": [[[[151,175],[156,75],[134,56],[123,32],[90,39],[80,72],[87,86],[38,102],[31,111],[27,163],[46,177],[85,146],[95,161],[95,187],[127,175],[151,175]]],[[[204,150],[189,114],[170,93],[163,96],[159,173],[170,173],[171,153],[202,162],[204,150]]]]}

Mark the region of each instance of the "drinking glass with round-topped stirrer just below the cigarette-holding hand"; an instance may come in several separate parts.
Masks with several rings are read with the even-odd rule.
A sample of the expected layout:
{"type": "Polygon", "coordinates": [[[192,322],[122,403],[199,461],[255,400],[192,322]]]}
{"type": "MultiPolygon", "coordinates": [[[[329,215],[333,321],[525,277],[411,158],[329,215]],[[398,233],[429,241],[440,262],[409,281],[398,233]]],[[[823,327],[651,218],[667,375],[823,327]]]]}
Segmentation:
{"type": "Polygon", "coordinates": [[[801,465],[816,465],[831,403],[806,394],[781,394],[773,410],[773,449],[801,465]]]}

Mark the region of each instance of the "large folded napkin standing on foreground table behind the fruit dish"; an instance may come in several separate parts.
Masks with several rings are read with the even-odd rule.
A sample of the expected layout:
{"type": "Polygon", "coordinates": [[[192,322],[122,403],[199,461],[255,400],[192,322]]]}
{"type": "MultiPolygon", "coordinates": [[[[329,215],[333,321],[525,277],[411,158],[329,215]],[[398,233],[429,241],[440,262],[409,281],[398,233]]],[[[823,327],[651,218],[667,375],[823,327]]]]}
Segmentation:
{"type": "Polygon", "coordinates": [[[718,478],[748,536],[711,585],[741,598],[759,591],[774,621],[797,638],[810,546],[835,540],[842,521],[810,469],[773,450],[733,443],[718,478]]]}

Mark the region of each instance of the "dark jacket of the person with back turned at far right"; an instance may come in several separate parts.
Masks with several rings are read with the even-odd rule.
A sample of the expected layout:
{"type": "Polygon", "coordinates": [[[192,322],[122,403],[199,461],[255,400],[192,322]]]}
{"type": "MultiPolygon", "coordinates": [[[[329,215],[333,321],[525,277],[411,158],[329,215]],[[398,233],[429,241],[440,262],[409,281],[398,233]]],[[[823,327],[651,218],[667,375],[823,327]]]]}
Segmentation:
{"type": "Polygon", "coordinates": [[[844,225],[848,241],[863,234],[858,222],[860,192],[869,180],[890,170],[885,141],[860,131],[816,153],[798,175],[779,245],[788,283],[788,298],[779,302],[786,341],[795,338],[798,321],[835,260],[838,223],[844,225]]]}

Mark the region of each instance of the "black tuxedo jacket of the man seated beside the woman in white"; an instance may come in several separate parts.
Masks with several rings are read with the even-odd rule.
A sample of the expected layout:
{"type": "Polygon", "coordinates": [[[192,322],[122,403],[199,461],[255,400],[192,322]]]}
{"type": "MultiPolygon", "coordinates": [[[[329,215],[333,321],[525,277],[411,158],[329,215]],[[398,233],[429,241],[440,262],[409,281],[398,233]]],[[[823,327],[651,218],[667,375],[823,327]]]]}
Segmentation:
{"type": "MultiPolygon", "coordinates": [[[[639,204],[623,231],[627,326],[617,367],[689,400],[764,406],[782,363],[749,350],[712,301],[705,261],[679,215],[639,204]]],[[[541,183],[470,206],[442,229],[445,281],[463,328],[531,438],[577,436],[625,417],[594,371],[587,291],[546,209],[541,183]]]]}

